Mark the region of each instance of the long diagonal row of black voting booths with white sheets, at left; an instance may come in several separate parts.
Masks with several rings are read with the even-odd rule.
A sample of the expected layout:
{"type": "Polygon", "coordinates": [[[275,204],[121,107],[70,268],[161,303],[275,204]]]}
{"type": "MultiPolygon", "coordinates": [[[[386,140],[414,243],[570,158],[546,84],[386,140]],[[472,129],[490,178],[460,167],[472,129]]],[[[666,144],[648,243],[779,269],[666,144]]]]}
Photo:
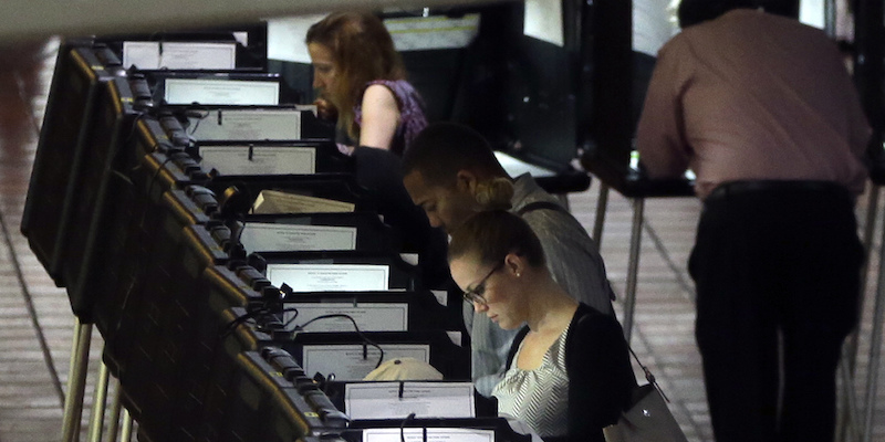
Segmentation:
{"type": "Polygon", "coordinates": [[[396,160],[341,154],[279,75],[240,64],[252,43],[140,38],[62,44],[22,221],[77,318],[64,440],[92,327],[124,438],[132,419],[142,441],[524,440],[475,397],[444,233],[361,173],[398,182],[396,160]],[[170,54],[229,64],[149,64],[170,54]],[[362,381],[402,358],[444,380],[362,381]]]}

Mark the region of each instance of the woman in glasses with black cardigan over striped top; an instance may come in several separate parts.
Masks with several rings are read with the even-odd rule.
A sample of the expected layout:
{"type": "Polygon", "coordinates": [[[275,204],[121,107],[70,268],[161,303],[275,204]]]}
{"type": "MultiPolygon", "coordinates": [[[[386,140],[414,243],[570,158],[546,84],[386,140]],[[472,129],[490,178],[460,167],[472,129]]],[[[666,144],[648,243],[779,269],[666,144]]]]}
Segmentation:
{"type": "Polygon", "coordinates": [[[477,213],[456,229],[449,267],[477,313],[503,329],[522,327],[492,390],[499,413],[544,441],[604,441],[602,429],[617,422],[636,386],[617,320],[569,296],[538,236],[506,211],[477,213]]]}

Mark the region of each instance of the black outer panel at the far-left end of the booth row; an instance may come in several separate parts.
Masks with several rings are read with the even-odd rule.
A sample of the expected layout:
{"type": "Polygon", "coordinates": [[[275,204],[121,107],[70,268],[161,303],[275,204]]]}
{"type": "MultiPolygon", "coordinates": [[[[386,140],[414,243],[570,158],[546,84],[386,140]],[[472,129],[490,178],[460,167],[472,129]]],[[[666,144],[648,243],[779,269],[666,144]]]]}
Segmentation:
{"type": "Polygon", "coordinates": [[[119,69],[113,53],[91,41],[70,41],[59,50],[21,223],[31,250],[59,286],[65,285],[60,254],[76,200],[72,185],[79,182],[88,149],[100,90],[119,69]]]}

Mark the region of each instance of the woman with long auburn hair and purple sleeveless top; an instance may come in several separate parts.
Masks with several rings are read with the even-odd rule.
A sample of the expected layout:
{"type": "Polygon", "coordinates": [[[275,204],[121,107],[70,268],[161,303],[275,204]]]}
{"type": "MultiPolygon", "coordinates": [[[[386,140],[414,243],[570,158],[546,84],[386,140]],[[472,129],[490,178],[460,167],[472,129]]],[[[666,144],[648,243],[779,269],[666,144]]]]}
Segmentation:
{"type": "Polygon", "coordinates": [[[314,23],[305,39],[320,91],[320,116],[334,118],[356,146],[402,155],[427,126],[423,102],[381,19],[371,12],[333,12],[314,23]]]}

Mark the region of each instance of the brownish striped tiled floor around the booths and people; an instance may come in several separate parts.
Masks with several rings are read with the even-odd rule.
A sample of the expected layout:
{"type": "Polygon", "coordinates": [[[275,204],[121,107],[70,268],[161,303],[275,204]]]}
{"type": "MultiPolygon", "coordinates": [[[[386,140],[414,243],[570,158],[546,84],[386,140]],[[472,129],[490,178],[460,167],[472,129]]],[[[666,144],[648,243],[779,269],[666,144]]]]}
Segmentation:
{"type": "MultiPolygon", "coordinates": [[[[63,386],[67,380],[73,317],[65,292],[53,285],[19,232],[28,178],[37,147],[37,127],[46,103],[52,75],[52,44],[45,50],[0,51],[0,442],[56,441],[61,434],[63,386]],[[28,95],[28,56],[46,54],[38,70],[33,97],[28,95]],[[17,130],[7,130],[9,128],[17,130]]],[[[590,191],[570,197],[575,215],[591,230],[597,182],[590,191]]],[[[865,199],[858,204],[863,220],[865,199]]],[[[879,211],[882,209],[878,209],[879,211]]],[[[691,441],[711,441],[709,415],[694,343],[694,290],[685,263],[694,242],[699,204],[694,199],[646,202],[639,265],[636,328],[633,346],[657,375],[671,408],[691,441]]],[[[612,193],[602,241],[602,254],[615,291],[623,293],[631,231],[631,203],[612,193]]],[[[879,221],[881,223],[881,221],[879,221]]],[[[875,230],[882,232],[879,225],[875,230]]],[[[865,398],[868,337],[874,286],[878,272],[876,243],[868,272],[862,326],[861,379],[855,390],[865,398]]],[[[618,302],[617,308],[623,308],[618,302]]],[[[91,367],[96,366],[101,338],[93,337],[91,367]]],[[[883,370],[879,370],[879,385],[883,370]]],[[[90,380],[94,379],[94,372],[90,380]]],[[[885,388],[879,388],[875,435],[885,441],[885,388]]],[[[87,402],[92,388],[87,387],[87,402]]],[[[87,404],[88,406],[88,404],[87,404]]],[[[84,419],[88,411],[84,412],[84,419]]],[[[84,424],[85,427],[85,424],[84,424]]]]}

